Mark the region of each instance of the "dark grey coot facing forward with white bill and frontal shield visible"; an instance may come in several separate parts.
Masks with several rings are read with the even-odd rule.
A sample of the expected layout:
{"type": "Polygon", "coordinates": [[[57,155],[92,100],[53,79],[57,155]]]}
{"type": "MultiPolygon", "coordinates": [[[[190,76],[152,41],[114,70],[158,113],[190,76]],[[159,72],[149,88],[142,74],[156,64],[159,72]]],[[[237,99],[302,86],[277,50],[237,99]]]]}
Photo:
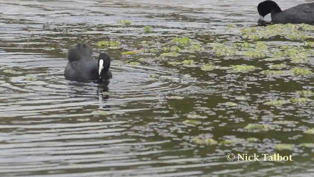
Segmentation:
{"type": "Polygon", "coordinates": [[[67,80],[78,82],[97,82],[112,78],[110,57],[101,53],[98,60],[92,58],[92,48],[88,44],[78,43],[68,51],[68,64],[64,69],[67,80]]]}

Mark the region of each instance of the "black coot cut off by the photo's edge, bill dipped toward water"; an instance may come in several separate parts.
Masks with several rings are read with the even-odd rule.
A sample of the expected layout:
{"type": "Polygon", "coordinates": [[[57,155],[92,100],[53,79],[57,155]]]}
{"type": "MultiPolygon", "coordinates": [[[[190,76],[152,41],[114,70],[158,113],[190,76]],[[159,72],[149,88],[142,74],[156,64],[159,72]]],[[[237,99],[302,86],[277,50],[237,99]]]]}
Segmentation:
{"type": "Polygon", "coordinates": [[[270,13],[273,23],[314,24],[314,2],[300,4],[282,11],[276,2],[265,0],[258,5],[257,9],[262,18],[270,13]]]}

